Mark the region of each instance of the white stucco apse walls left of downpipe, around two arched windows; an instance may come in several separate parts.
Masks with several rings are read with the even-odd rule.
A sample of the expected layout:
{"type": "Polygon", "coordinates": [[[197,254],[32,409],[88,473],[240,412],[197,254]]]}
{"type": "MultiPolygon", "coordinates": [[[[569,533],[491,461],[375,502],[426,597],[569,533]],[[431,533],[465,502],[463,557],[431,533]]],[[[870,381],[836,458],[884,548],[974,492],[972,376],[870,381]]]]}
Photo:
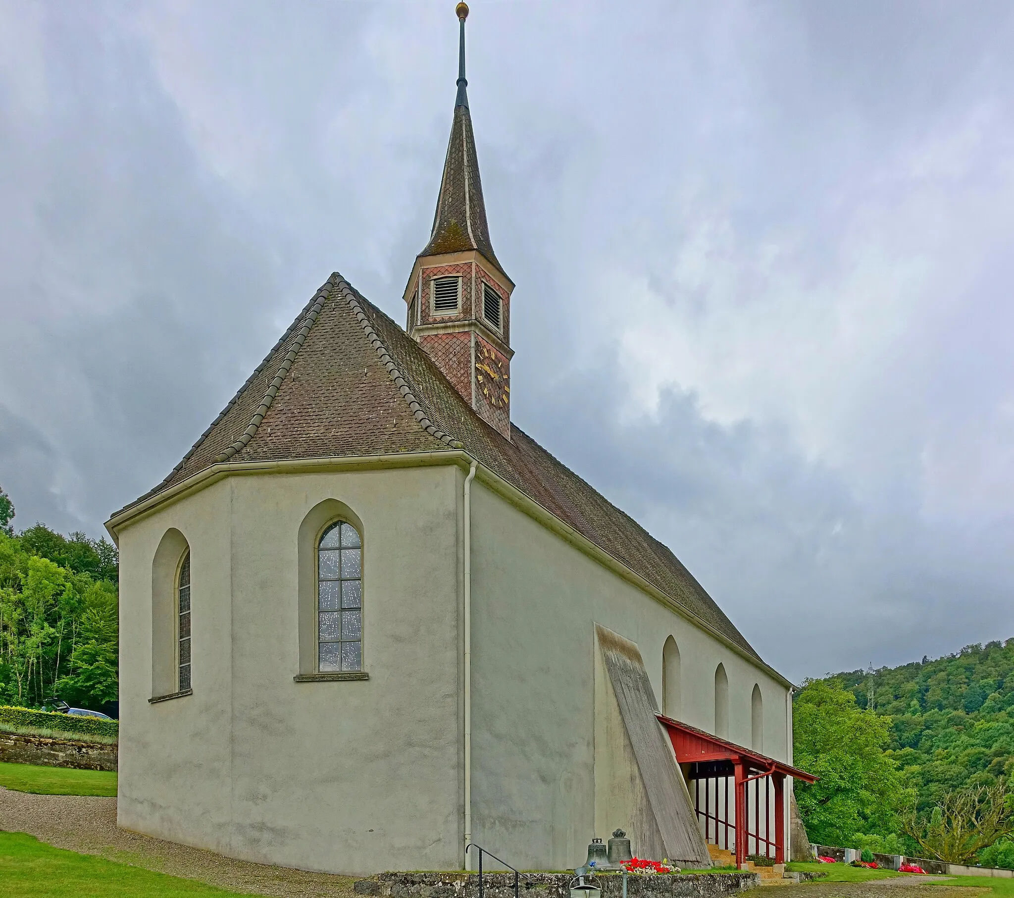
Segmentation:
{"type": "Polygon", "coordinates": [[[251,860],[459,865],[459,472],[232,477],[120,534],[120,824],[251,860]],[[368,681],[295,683],[296,535],[363,523],[368,681]],[[194,694],[150,697],[151,561],[192,551],[194,694]]]}

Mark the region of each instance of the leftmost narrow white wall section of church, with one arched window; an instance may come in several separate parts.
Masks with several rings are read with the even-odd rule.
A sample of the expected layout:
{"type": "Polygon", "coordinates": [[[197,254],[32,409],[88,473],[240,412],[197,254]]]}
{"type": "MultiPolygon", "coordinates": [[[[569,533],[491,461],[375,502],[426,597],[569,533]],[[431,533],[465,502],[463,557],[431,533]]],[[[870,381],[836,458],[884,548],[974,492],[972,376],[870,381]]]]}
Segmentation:
{"type": "Polygon", "coordinates": [[[120,535],[119,823],[215,850],[228,846],[231,805],[229,496],[216,484],[120,535]],[[170,528],[191,547],[199,689],[150,705],[152,560],[170,528]]]}

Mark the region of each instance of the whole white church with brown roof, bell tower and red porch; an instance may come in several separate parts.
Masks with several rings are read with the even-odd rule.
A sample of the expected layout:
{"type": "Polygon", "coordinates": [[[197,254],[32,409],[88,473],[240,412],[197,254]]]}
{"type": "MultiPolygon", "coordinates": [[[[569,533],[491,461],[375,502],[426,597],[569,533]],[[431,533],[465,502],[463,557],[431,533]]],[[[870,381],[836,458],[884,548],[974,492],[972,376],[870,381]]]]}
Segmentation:
{"type": "Polygon", "coordinates": [[[120,826],[363,875],[468,868],[470,844],[573,868],[618,828],[682,866],[781,859],[792,684],[511,420],[511,313],[545,297],[490,237],[467,11],[405,327],[332,274],[106,524],[120,826]]]}

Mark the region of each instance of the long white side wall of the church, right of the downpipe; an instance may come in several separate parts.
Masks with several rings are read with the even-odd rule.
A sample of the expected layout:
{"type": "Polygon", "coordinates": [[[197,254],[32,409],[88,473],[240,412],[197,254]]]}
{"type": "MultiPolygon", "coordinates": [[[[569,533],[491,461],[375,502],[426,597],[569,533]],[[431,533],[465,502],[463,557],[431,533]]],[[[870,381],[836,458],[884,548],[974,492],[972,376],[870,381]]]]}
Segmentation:
{"type": "MultiPolygon", "coordinates": [[[[606,570],[490,489],[473,492],[474,825],[477,842],[521,869],[584,860],[595,808],[594,634],[636,642],[656,700],[662,649],[679,648],[681,719],[714,732],[715,670],[729,678],[729,736],[750,744],[764,695],[765,752],[788,760],[785,687],[718,639],[606,570]],[[503,852],[503,853],[501,853],[503,852]]],[[[635,851],[637,846],[634,846],[635,851]]]]}

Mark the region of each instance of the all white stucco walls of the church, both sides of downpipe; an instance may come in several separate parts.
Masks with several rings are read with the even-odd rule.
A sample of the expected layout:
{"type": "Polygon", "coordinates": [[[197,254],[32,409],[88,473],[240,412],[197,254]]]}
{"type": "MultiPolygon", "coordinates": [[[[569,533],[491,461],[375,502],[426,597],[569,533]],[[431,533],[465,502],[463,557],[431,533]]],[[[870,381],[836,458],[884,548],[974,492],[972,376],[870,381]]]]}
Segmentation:
{"type": "MultiPolygon", "coordinates": [[[[122,826],[310,870],[459,868],[463,477],[232,476],[120,531],[122,826]],[[297,535],[324,499],[363,525],[366,681],[293,682],[297,535]],[[194,692],[150,704],[152,558],[170,528],[192,552],[194,692]]],[[[785,689],[760,668],[478,480],[472,520],[474,841],[566,869],[612,829],[595,807],[595,623],[638,644],[659,702],[673,636],[680,716],[703,730],[723,664],[741,745],[759,684],[765,752],[788,760],[785,689]]]]}

